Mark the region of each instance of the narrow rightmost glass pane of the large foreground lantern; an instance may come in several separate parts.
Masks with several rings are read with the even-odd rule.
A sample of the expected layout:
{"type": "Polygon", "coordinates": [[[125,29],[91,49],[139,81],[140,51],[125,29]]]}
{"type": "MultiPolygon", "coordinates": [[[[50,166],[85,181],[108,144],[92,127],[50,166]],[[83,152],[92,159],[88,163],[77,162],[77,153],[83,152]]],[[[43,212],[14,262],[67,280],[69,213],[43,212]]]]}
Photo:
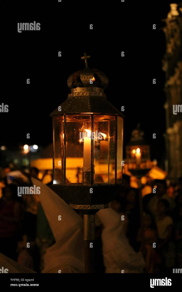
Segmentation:
{"type": "Polygon", "coordinates": [[[122,183],[123,119],[117,117],[117,183],[122,183]]]}

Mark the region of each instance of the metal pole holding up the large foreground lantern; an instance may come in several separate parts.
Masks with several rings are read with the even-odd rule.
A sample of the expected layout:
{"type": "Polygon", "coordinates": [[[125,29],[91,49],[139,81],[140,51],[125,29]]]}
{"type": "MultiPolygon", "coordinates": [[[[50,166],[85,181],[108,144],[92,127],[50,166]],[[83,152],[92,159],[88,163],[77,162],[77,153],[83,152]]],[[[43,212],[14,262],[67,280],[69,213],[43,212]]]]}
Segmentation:
{"type": "Polygon", "coordinates": [[[84,214],[85,273],[96,272],[95,214],[84,214]]]}

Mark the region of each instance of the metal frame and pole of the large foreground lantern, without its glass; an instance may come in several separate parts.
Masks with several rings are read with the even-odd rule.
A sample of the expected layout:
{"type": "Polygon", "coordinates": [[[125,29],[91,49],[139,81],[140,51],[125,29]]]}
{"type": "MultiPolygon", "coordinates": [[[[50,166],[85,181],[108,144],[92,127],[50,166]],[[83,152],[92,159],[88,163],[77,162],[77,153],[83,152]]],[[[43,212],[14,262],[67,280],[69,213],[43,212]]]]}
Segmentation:
{"type": "MultiPolygon", "coordinates": [[[[123,118],[119,112],[105,98],[104,89],[108,85],[108,77],[97,69],[88,68],[86,53],[84,53],[86,68],[70,75],[67,80],[71,93],[50,116],[53,118],[53,142],[54,142],[54,118],[64,116],[64,166],[62,173],[63,184],[51,186],[62,197],[70,208],[81,210],[84,218],[84,246],[85,246],[85,272],[95,272],[95,213],[100,209],[108,208],[109,202],[115,193],[122,190],[122,182],[117,183],[117,142],[118,142],[118,117],[122,118],[121,132],[123,150],[123,118]],[[95,83],[90,80],[94,77],[95,83]],[[60,112],[61,107],[61,112],[60,112]],[[82,109],[82,110],[80,110],[82,109]],[[66,118],[69,115],[91,115],[91,133],[94,132],[94,114],[103,116],[115,116],[115,183],[94,183],[94,140],[91,139],[91,179],[88,184],[66,184],[66,118]],[[90,193],[90,188],[93,192],[90,193]],[[114,192],[113,192],[114,191],[114,192]],[[90,246],[92,244],[92,246],[90,246]],[[92,248],[91,248],[92,247],[92,248]]],[[[54,153],[53,144],[53,177],[54,177],[54,153]]],[[[122,161],[121,161],[122,166],[122,161]]],[[[122,167],[121,167],[122,174],[122,167]]]]}

